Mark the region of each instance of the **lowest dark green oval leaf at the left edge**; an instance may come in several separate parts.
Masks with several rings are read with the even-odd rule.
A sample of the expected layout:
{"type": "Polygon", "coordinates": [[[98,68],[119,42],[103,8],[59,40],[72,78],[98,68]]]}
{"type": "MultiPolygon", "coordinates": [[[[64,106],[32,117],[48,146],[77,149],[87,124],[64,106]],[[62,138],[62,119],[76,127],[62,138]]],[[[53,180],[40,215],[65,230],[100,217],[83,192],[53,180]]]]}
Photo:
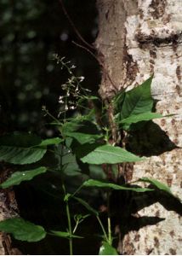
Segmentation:
{"type": "Polygon", "coordinates": [[[20,241],[40,241],[46,236],[42,226],[32,224],[23,218],[8,218],[1,221],[0,230],[12,234],[20,241]]]}

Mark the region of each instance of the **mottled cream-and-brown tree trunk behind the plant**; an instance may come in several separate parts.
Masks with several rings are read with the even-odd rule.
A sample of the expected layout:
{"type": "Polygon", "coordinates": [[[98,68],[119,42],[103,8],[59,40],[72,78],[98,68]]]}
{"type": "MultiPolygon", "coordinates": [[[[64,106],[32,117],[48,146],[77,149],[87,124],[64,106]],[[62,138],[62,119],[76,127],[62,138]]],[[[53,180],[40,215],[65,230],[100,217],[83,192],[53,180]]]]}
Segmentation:
{"type": "MultiPolygon", "coordinates": [[[[134,164],[133,168],[130,166],[126,179],[131,182],[139,177],[156,178],[168,183],[179,197],[182,195],[181,0],[97,0],[97,4],[99,35],[95,45],[103,64],[102,98],[111,100],[116,90],[131,89],[154,73],[151,92],[159,100],[156,112],[177,113],[155,120],[160,129],[149,124],[145,131],[128,138],[128,148],[154,156],[134,164]],[[139,148],[134,148],[136,141],[139,148]],[[153,149],[146,147],[147,142],[152,143],[153,149]]],[[[134,197],[133,201],[139,204],[139,198],[134,197]]],[[[164,219],[128,230],[118,247],[120,253],[182,254],[181,208],[175,202],[160,202],[151,200],[146,207],[133,212],[138,218],[164,219]]]]}

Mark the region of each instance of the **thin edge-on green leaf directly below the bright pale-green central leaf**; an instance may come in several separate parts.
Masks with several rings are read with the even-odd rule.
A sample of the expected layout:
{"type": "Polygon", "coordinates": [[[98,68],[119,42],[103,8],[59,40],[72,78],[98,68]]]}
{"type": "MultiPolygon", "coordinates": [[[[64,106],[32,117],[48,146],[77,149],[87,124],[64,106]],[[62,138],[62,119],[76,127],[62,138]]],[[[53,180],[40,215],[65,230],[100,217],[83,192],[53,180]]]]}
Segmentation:
{"type": "Polygon", "coordinates": [[[147,188],[133,188],[127,186],[120,186],[114,183],[106,183],[100,182],[99,180],[95,179],[88,179],[85,181],[82,186],[84,187],[97,187],[97,188],[107,188],[107,189],[117,189],[117,190],[131,190],[135,192],[146,192],[146,191],[153,191],[154,189],[147,189],[147,188]]]}

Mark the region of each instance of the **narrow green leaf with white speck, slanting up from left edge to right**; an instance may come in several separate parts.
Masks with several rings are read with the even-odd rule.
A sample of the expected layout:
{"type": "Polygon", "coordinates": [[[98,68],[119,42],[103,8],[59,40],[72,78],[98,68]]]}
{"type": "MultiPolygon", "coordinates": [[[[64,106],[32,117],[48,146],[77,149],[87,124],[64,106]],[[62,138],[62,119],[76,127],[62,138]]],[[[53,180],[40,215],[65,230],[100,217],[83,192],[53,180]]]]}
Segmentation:
{"type": "Polygon", "coordinates": [[[7,189],[10,186],[19,185],[23,181],[31,180],[33,177],[46,172],[46,167],[39,167],[30,171],[14,172],[4,183],[0,185],[0,188],[7,189]]]}

